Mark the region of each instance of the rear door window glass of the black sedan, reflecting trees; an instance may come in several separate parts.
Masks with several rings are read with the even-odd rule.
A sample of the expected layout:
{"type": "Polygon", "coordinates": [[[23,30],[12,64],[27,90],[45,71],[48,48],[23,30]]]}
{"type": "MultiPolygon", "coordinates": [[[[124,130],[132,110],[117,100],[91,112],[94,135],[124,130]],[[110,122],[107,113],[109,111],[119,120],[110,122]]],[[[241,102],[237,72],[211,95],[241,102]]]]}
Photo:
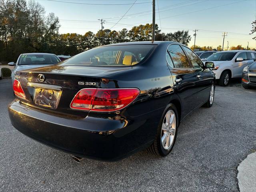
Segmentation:
{"type": "Polygon", "coordinates": [[[174,67],[176,68],[190,68],[188,58],[183,52],[179,45],[170,45],[168,47],[168,52],[172,57],[174,67]]]}

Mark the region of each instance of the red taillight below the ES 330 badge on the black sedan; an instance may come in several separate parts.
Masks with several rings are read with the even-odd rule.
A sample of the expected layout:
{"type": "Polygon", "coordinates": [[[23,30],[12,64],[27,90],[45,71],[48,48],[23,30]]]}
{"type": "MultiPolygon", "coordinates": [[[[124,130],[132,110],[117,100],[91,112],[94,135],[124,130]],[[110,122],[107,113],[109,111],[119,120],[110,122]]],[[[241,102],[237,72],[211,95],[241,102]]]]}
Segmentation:
{"type": "Polygon", "coordinates": [[[132,103],[140,94],[136,88],[82,89],[70,104],[70,108],[98,112],[120,110],[132,103]]]}

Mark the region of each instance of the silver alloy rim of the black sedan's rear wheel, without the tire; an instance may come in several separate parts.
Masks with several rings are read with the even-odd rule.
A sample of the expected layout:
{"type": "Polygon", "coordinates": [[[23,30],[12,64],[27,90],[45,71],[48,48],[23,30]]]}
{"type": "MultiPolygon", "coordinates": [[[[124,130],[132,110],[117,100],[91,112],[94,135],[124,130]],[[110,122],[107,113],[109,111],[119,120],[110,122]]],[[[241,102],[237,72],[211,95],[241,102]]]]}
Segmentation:
{"type": "Polygon", "coordinates": [[[164,149],[168,150],[173,142],[176,133],[176,116],[173,110],[169,110],[162,124],[161,142],[164,149]]]}

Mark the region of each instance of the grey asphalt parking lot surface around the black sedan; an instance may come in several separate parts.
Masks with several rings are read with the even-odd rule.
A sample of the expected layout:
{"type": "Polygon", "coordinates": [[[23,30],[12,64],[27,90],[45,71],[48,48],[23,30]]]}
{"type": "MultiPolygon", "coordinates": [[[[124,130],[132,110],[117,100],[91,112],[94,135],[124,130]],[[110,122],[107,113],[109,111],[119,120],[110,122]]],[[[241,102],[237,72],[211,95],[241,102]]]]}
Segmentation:
{"type": "Polygon", "coordinates": [[[256,90],[216,86],[211,108],[181,123],[172,152],[118,162],[84,160],[44,146],[10,123],[10,79],[0,80],[0,191],[239,191],[237,166],[256,149],[256,90]]]}

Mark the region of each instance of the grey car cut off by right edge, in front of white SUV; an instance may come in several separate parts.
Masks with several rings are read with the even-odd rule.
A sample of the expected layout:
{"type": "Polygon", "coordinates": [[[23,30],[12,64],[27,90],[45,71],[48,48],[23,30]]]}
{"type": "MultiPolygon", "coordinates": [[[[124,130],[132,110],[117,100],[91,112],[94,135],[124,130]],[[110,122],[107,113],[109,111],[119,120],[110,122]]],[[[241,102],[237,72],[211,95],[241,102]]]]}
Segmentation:
{"type": "Polygon", "coordinates": [[[242,86],[245,89],[256,87],[256,62],[253,62],[243,69],[242,86]]]}

